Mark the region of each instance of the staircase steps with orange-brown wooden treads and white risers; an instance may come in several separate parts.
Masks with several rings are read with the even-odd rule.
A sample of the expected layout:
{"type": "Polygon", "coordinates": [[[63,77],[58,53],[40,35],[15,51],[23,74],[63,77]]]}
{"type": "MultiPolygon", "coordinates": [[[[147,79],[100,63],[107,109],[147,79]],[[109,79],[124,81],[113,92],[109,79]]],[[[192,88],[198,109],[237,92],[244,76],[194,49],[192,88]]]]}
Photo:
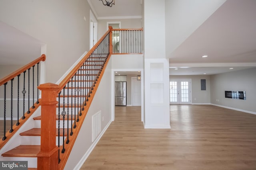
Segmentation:
{"type": "MultiPolygon", "coordinates": [[[[90,61],[90,63],[93,63],[96,61],[90,61]]],[[[103,61],[102,61],[103,62],[103,61]]],[[[91,67],[91,66],[90,66],[91,67]]],[[[88,70],[88,69],[84,69],[84,70],[88,70]]],[[[94,70],[92,68],[90,68],[91,72],[96,72],[97,70],[94,70]]],[[[96,74],[92,74],[91,76],[95,76],[96,74]]],[[[65,94],[75,94],[76,92],[76,84],[80,84],[80,83],[87,83],[88,82],[92,82],[92,77],[88,76],[88,80],[80,80],[81,76],[86,76],[83,74],[76,74],[76,80],[70,80],[70,82],[72,83],[73,87],[67,88],[65,87],[65,94]],[[89,80],[90,79],[90,80],[89,80]]],[[[92,84],[92,83],[91,83],[92,84]]],[[[86,88],[84,88],[85,94],[90,94],[90,89],[92,87],[91,86],[87,86],[86,88]]],[[[80,100],[77,101],[77,97],[80,99],[82,96],[73,96],[72,98],[69,96],[68,100],[71,101],[75,101],[76,100],[76,104],[73,104],[72,108],[71,108],[71,104],[69,104],[69,106],[67,104],[65,104],[65,101],[67,102],[67,95],[60,95],[60,101],[59,101],[59,96],[56,96],[56,100],[59,101],[60,103],[60,110],[65,110],[68,113],[76,113],[77,109],[79,109],[79,104],[80,104],[80,100]],[[64,109],[65,108],[65,109],[64,109]],[[67,108],[69,108],[69,110],[67,110],[67,108]]],[[[84,96],[85,98],[87,98],[87,96],[84,96]]],[[[64,119],[63,116],[58,115],[58,104],[56,105],[56,146],[58,146],[58,141],[60,142],[60,146],[63,145],[63,141],[65,141],[68,132],[71,132],[71,125],[73,124],[74,127],[74,122],[75,120],[75,114],[69,114],[69,115],[65,115],[64,119]],[[60,119],[60,120],[59,120],[60,119]],[[60,128],[58,129],[58,124],[60,121],[60,125],[65,125],[64,128],[60,128]],[[64,121],[64,123],[63,123],[64,121]],[[69,121],[69,123],[68,123],[69,121]],[[69,126],[69,127],[67,127],[69,126]],[[63,133],[64,130],[64,133],[63,133]],[[60,139],[58,137],[58,133],[60,132],[60,139]],[[64,134],[64,135],[63,135],[64,134]],[[64,138],[63,138],[64,136],[64,138]]],[[[77,116],[77,115],[76,115],[77,116]]],[[[76,117],[77,119],[77,117],[76,117]]],[[[8,160],[13,160],[13,161],[23,161],[23,160],[28,160],[28,167],[30,168],[36,168],[37,167],[37,154],[40,151],[40,141],[41,141],[41,115],[40,116],[36,116],[33,117],[34,120],[34,127],[32,129],[29,129],[27,131],[24,131],[22,133],[20,133],[19,135],[22,138],[22,145],[19,145],[18,147],[15,147],[5,153],[2,154],[3,157],[9,157],[8,160]]],[[[72,128],[73,128],[72,127],[72,128]]]]}

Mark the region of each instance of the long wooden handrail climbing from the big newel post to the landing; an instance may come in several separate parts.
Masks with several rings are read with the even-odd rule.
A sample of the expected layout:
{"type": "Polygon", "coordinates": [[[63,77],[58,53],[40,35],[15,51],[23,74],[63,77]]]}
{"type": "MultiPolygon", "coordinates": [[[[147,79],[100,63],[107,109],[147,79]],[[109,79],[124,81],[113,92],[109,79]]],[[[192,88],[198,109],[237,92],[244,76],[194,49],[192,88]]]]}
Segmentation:
{"type": "MultiPolygon", "coordinates": [[[[108,33],[112,31],[112,27],[110,26],[108,31],[99,39],[99,41],[86,53],[86,55],[82,58],[82,60],[76,64],[76,66],[70,71],[70,73],[60,82],[59,84],[59,90],[57,91],[57,94],[66,86],[68,81],[74,76],[74,74],[77,72],[77,70],[83,65],[83,63],[90,57],[90,55],[93,53],[93,51],[100,45],[101,41],[108,35],[108,33]]],[[[110,51],[112,53],[112,51],[110,51]]]]}

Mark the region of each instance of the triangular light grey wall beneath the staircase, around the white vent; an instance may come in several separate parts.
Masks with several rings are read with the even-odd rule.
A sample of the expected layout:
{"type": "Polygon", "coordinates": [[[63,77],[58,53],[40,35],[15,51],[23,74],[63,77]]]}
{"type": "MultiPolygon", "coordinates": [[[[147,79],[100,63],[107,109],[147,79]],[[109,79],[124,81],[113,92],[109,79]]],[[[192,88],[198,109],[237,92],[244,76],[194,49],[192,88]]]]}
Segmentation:
{"type": "MultiPolygon", "coordinates": [[[[100,85],[94,96],[90,109],[86,115],[84,123],[80,129],[74,147],[68,157],[68,161],[64,170],[72,170],[76,167],[80,158],[88,156],[88,149],[94,144],[92,143],[92,115],[101,111],[102,117],[102,130],[111,121],[111,59],[108,62],[104,76],[101,79],[100,85]],[[87,153],[86,153],[87,152],[87,153]]],[[[81,162],[80,162],[81,163],[81,162]]],[[[82,162],[83,163],[83,162],[82,162]]]]}

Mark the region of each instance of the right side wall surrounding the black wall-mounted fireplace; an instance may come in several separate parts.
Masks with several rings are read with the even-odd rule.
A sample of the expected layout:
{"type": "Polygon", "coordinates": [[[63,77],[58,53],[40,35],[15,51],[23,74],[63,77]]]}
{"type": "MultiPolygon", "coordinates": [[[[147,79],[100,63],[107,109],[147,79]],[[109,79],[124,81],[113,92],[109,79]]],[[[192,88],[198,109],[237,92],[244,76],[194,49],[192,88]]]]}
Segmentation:
{"type": "Polygon", "coordinates": [[[211,103],[256,113],[255,84],[256,68],[212,75],[211,103]],[[246,91],[246,100],[225,98],[225,90],[246,91]]]}

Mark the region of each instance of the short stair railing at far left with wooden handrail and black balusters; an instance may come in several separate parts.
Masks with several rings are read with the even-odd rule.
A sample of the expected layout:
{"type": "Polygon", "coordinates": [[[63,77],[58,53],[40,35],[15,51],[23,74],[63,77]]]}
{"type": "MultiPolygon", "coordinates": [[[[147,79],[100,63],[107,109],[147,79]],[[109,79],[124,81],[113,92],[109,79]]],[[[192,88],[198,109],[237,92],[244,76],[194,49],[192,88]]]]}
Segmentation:
{"type": "Polygon", "coordinates": [[[0,80],[0,121],[3,121],[0,149],[39,107],[39,67],[45,59],[43,54],[0,80]]]}

